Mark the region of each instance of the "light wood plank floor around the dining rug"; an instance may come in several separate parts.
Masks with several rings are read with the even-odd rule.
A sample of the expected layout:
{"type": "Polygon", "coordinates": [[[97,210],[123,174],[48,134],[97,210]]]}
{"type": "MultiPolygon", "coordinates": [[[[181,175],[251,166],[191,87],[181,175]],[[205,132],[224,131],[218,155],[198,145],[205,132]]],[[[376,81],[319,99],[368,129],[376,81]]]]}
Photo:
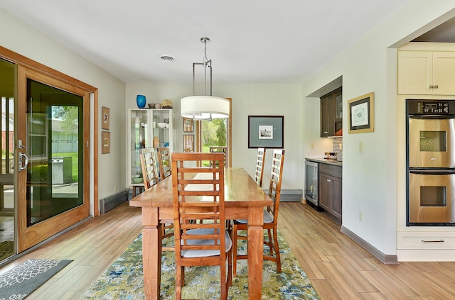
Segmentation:
{"type": "MultiPolygon", "coordinates": [[[[384,265],[306,204],[282,202],[279,230],[321,299],[455,299],[455,262],[384,265]]],[[[141,231],[141,211],[122,204],[20,259],[71,259],[28,299],[79,299],[141,231]]]]}

